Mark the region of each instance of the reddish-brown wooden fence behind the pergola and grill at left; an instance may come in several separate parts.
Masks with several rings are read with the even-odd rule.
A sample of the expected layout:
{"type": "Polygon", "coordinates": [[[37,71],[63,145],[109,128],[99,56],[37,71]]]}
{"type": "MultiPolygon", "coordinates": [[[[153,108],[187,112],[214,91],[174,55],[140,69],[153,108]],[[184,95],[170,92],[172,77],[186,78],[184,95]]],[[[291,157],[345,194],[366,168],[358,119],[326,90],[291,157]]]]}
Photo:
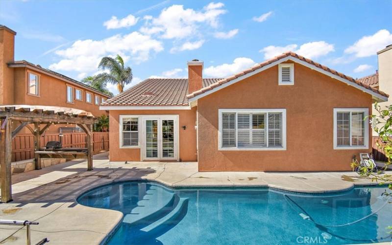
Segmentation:
{"type": "MultiPolygon", "coordinates": [[[[93,153],[109,150],[109,132],[93,132],[93,153]]],[[[48,141],[60,141],[58,133],[46,133],[42,136],[41,147],[48,141]]],[[[63,133],[63,147],[86,147],[85,133],[63,133]]],[[[12,140],[12,162],[34,158],[34,136],[18,134],[12,140]]]]}

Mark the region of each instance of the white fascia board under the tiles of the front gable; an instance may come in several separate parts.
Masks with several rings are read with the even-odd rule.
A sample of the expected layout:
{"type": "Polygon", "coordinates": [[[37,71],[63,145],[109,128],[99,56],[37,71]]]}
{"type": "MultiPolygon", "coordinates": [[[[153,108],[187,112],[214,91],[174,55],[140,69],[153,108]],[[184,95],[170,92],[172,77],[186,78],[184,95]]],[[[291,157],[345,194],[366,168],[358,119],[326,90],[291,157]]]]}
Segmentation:
{"type": "Polygon", "coordinates": [[[287,56],[287,57],[285,57],[285,58],[282,58],[282,59],[279,59],[279,60],[277,60],[277,61],[275,61],[275,62],[272,62],[272,63],[270,63],[269,65],[266,65],[266,66],[263,66],[263,67],[261,67],[261,68],[259,68],[259,69],[257,69],[257,70],[254,70],[253,72],[246,73],[246,74],[244,74],[244,75],[242,75],[242,76],[239,76],[239,77],[237,77],[237,78],[235,78],[235,79],[233,79],[233,80],[231,80],[231,81],[229,81],[229,82],[223,83],[222,85],[220,85],[220,86],[218,86],[218,87],[216,87],[216,88],[214,88],[214,89],[212,89],[212,90],[209,90],[209,91],[207,91],[207,92],[204,92],[204,93],[202,93],[202,94],[200,94],[200,95],[197,95],[197,96],[195,96],[195,97],[193,97],[193,98],[189,98],[189,102],[191,103],[191,102],[193,102],[193,101],[195,101],[195,100],[197,100],[197,99],[199,99],[199,98],[203,98],[203,97],[205,97],[205,96],[207,96],[207,95],[209,95],[209,94],[215,93],[215,92],[217,92],[217,91],[219,91],[219,90],[221,90],[221,89],[223,89],[223,88],[225,88],[225,87],[227,87],[227,86],[232,85],[233,83],[236,83],[236,82],[239,82],[239,81],[241,81],[241,80],[244,80],[245,78],[248,78],[249,76],[252,76],[252,75],[254,75],[254,74],[260,73],[260,72],[262,72],[262,71],[264,71],[264,70],[267,70],[267,69],[269,69],[269,68],[271,68],[271,67],[273,67],[273,66],[276,66],[276,65],[278,65],[278,64],[280,64],[280,63],[282,63],[282,62],[285,62],[285,61],[287,61],[287,60],[292,60],[292,61],[294,61],[294,62],[296,62],[296,63],[298,63],[298,64],[301,64],[301,65],[303,65],[303,66],[306,66],[306,67],[308,67],[308,68],[310,68],[310,69],[312,69],[312,70],[318,71],[319,73],[323,73],[323,74],[325,74],[325,75],[327,75],[327,76],[330,76],[330,77],[332,77],[332,78],[334,78],[334,79],[336,79],[336,80],[339,80],[339,81],[341,81],[341,82],[344,82],[344,83],[347,84],[347,85],[350,85],[350,86],[353,86],[354,88],[357,88],[357,89],[359,89],[359,90],[362,90],[363,92],[370,94],[370,95],[372,96],[372,98],[374,98],[374,99],[375,99],[376,101],[378,101],[378,102],[385,102],[385,101],[388,101],[388,97],[385,97],[385,96],[382,96],[382,95],[380,95],[380,94],[377,94],[377,93],[373,92],[373,91],[370,90],[370,89],[367,89],[367,88],[365,88],[365,87],[362,87],[361,85],[358,85],[358,84],[356,84],[356,83],[354,83],[354,82],[352,82],[352,81],[349,81],[349,80],[347,80],[347,79],[345,79],[345,78],[343,78],[343,77],[340,77],[340,76],[338,76],[338,75],[335,75],[335,74],[333,74],[333,73],[327,72],[327,71],[325,71],[325,70],[323,70],[323,69],[321,69],[321,68],[319,68],[319,67],[317,67],[317,66],[315,66],[315,65],[309,64],[309,63],[306,62],[306,61],[300,60],[300,59],[295,58],[295,57],[293,57],[293,56],[287,56]]]}

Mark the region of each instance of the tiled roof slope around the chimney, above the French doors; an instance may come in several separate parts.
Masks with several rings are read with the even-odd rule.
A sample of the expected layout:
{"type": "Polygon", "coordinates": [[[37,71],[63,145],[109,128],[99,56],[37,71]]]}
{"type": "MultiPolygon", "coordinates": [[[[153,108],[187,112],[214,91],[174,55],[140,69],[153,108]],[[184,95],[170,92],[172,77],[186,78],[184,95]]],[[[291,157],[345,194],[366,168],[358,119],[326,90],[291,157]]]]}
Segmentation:
{"type": "MultiPolygon", "coordinates": [[[[204,78],[203,87],[222,78],[204,78]]],[[[148,78],[123,93],[106,100],[102,106],[187,106],[187,78],[148,78]]]]}

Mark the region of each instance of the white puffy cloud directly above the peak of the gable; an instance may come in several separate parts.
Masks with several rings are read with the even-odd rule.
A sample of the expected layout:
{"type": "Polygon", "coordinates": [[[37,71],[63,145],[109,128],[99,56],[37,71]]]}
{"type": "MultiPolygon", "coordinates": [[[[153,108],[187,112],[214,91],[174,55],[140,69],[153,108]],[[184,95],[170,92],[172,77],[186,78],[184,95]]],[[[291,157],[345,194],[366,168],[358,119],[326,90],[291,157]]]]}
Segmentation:
{"type": "Polygon", "coordinates": [[[302,44],[299,49],[297,49],[297,47],[298,45],[296,44],[290,44],[285,47],[268,46],[261,49],[260,52],[264,52],[265,59],[273,58],[276,55],[282,54],[286,51],[293,51],[306,58],[313,59],[335,51],[334,45],[328,44],[325,41],[305,43],[302,44]]]}

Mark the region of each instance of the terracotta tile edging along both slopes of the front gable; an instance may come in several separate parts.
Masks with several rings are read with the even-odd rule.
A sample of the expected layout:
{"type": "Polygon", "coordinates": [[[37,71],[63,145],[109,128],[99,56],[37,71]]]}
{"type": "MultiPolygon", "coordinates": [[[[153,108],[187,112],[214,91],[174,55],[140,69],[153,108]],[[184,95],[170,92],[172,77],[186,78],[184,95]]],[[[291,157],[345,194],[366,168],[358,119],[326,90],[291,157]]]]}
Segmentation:
{"type": "Polygon", "coordinates": [[[343,73],[339,73],[339,72],[337,72],[335,70],[332,70],[332,69],[330,69],[330,68],[328,68],[326,66],[320,65],[319,63],[314,62],[311,59],[307,59],[307,58],[305,58],[305,57],[303,57],[301,55],[298,55],[298,54],[296,54],[294,52],[288,51],[288,52],[282,53],[281,55],[278,55],[278,56],[276,56],[274,58],[266,60],[266,61],[264,61],[262,63],[256,64],[255,66],[253,66],[253,67],[251,67],[249,69],[246,69],[246,70],[244,70],[244,71],[242,71],[240,73],[231,75],[231,76],[226,77],[224,79],[221,79],[221,80],[219,80],[219,81],[217,81],[215,83],[212,83],[209,86],[203,87],[202,89],[197,90],[197,91],[193,92],[192,94],[187,95],[187,98],[194,98],[197,95],[203,94],[203,93],[205,93],[205,92],[207,92],[209,90],[212,90],[212,89],[214,89],[216,87],[219,87],[222,84],[224,84],[226,82],[229,82],[229,81],[231,81],[231,80],[233,80],[233,79],[235,79],[235,78],[237,78],[239,76],[242,76],[242,75],[244,75],[246,73],[253,72],[253,71],[257,70],[257,69],[260,69],[260,68],[262,68],[262,67],[264,67],[266,65],[269,65],[269,64],[271,64],[271,63],[273,63],[275,61],[278,61],[278,60],[280,60],[282,58],[285,58],[285,57],[288,57],[288,56],[292,56],[292,57],[295,57],[295,58],[300,59],[302,61],[305,61],[305,62],[307,62],[307,63],[309,63],[311,65],[314,65],[314,66],[316,66],[316,67],[318,67],[320,69],[323,69],[324,71],[327,71],[327,72],[332,73],[334,75],[338,75],[338,76],[340,76],[340,77],[342,77],[344,79],[347,79],[348,81],[350,81],[352,83],[356,83],[356,84],[358,84],[358,85],[360,85],[360,86],[362,86],[362,87],[364,87],[366,89],[369,89],[369,90],[371,90],[371,91],[373,91],[373,92],[375,92],[377,94],[380,94],[380,95],[385,96],[385,97],[389,97],[386,93],[384,93],[384,92],[382,92],[382,91],[380,91],[380,90],[378,90],[378,89],[376,89],[374,87],[371,87],[368,84],[362,83],[362,82],[360,82],[358,80],[355,80],[354,78],[352,78],[350,76],[346,76],[343,73]]]}

